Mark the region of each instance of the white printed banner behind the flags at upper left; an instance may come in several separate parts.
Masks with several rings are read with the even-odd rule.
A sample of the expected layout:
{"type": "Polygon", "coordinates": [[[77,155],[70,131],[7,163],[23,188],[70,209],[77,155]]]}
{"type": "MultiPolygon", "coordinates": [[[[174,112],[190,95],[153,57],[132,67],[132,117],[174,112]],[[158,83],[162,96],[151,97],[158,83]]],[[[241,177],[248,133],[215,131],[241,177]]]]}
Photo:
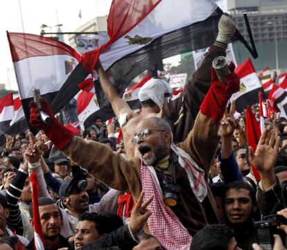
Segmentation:
{"type": "Polygon", "coordinates": [[[107,35],[106,31],[99,31],[97,35],[93,35],[89,37],[84,37],[82,35],[77,35],[75,37],[77,51],[80,55],[101,47],[108,40],[109,40],[109,36],[107,35]]]}

